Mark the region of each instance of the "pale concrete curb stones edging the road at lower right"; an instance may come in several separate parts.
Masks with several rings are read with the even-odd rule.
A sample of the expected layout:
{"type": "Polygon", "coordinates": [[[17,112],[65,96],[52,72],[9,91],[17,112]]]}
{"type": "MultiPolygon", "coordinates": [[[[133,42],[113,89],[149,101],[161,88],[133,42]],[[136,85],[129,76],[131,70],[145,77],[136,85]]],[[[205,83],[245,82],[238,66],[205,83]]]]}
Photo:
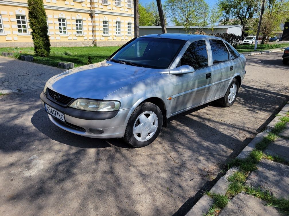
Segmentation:
{"type": "MultiPolygon", "coordinates": [[[[289,103],[286,103],[286,105],[281,109],[281,111],[278,113],[279,115],[285,116],[286,112],[289,111],[289,103]]],[[[258,133],[257,136],[241,151],[241,153],[237,156],[237,158],[242,159],[246,158],[250,151],[252,151],[255,148],[255,145],[260,142],[268,132],[274,127],[274,125],[279,122],[279,118],[282,116],[276,116],[267,126],[267,130],[265,132],[258,133]]],[[[227,178],[234,172],[238,171],[237,167],[230,168],[227,173],[221,177],[216,184],[212,187],[210,192],[219,193],[219,194],[225,194],[229,185],[229,181],[227,178]]],[[[199,201],[190,209],[190,211],[186,214],[186,216],[191,215],[203,215],[207,213],[207,211],[212,206],[212,200],[208,199],[210,198],[207,195],[203,195],[199,201]],[[205,197],[205,198],[203,198],[205,197]],[[196,207],[195,207],[196,206],[196,207]]]]}

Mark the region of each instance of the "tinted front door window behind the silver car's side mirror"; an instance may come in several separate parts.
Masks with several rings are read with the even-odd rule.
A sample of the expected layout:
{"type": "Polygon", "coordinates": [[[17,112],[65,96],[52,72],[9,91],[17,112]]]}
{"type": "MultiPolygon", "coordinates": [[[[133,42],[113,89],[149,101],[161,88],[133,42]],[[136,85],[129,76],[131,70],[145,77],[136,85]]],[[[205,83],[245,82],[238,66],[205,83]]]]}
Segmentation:
{"type": "Polygon", "coordinates": [[[181,65],[190,65],[195,70],[208,66],[208,52],[206,41],[195,41],[190,44],[183,57],[181,65]]]}

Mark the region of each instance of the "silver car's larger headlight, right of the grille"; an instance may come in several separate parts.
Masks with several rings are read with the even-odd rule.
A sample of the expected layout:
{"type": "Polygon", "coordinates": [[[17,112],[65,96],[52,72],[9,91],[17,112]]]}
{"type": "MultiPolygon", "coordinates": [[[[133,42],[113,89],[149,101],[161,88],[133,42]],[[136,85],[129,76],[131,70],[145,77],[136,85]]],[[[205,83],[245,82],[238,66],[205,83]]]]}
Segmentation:
{"type": "Polygon", "coordinates": [[[97,101],[89,99],[76,99],[70,107],[87,111],[116,111],[119,110],[121,103],[118,101],[97,101]]]}

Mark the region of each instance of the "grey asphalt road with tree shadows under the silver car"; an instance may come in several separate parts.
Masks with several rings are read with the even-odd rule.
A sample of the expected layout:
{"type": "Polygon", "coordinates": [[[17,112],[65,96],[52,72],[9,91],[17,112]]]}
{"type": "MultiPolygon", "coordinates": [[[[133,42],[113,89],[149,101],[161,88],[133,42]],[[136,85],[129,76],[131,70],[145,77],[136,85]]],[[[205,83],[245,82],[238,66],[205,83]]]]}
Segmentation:
{"type": "Polygon", "coordinates": [[[232,107],[179,114],[140,149],[54,126],[42,89],[1,96],[0,215],[184,215],[289,100],[281,56],[248,56],[232,107]]]}

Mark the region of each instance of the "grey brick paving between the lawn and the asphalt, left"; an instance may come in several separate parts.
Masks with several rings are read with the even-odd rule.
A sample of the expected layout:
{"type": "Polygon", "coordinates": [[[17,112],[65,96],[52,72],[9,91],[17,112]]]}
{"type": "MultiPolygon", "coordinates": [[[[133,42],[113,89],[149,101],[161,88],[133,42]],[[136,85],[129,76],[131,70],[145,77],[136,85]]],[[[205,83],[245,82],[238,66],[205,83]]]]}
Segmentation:
{"type": "Polygon", "coordinates": [[[0,56],[0,92],[41,89],[50,77],[63,71],[56,67],[0,56]]]}

